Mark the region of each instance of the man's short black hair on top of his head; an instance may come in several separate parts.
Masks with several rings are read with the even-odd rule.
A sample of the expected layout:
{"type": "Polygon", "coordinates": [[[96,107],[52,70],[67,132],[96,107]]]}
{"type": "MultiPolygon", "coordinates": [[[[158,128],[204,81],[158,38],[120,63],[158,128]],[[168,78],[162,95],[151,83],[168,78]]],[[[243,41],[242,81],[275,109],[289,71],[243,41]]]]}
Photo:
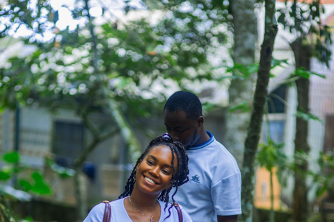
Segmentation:
{"type": "Polygon", "coordinates": [[[169,112],[183,111],[189,119],[198,119],[202,116],[202,103],[198,96],[191,92],[177,91],[165,103],[164,110],[169,112]]]}

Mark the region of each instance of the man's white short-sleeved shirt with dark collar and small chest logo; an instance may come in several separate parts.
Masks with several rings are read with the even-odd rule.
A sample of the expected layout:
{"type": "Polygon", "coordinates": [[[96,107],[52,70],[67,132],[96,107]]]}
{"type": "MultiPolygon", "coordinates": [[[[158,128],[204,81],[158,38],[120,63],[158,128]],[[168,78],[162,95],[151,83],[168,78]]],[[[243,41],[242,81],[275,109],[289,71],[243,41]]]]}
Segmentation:
{"type": "MultiPolygon", "coordinates": [[[[232,154],[214,136],[191,147],[189,182],[180,186],[174,199],[194,222],[216,222],[217,215],[241,214],[241,174],[232,154]]],[[[170,191],[170,196],[173,194],[170,191]]]]}

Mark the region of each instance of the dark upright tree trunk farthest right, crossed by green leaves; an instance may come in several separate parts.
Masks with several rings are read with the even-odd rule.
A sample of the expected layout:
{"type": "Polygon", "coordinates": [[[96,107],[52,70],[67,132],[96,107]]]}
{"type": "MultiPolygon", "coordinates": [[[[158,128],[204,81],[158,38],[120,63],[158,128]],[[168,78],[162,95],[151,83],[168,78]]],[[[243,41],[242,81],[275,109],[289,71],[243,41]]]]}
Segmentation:
{"type": "MultiPolygon", "coordinates": [[[[311,49],[310,46],[302,44],[302,40],[297,39],[291,44],[296,60],[296,69],[304,67],[310,70],[311,49]]],[[[297,111],[309,112],[309,91],[310,79],[299,78],[296,80],[297,87],[297,111]]],[[[296,118],[296,137],[294,139],[295,158],[299,153],[308,154],[310,146],[308,145],[308,121],[296,118]]],[[[306,221],[308,219],[308,187],[304,173],[308,170],[307,160],[296,160],[297,171],[294,177],[294,221],[306,221]]]]}

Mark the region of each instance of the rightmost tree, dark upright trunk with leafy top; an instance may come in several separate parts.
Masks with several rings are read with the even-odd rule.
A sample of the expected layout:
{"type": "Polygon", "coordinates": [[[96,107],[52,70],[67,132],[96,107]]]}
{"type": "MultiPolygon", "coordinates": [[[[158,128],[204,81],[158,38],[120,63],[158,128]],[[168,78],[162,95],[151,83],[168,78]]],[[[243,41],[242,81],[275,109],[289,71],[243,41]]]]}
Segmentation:
{"type": "MultiPolygon", "coordinates": [[[[294,178],[294,220],[305,221],[308,219],[308,185],[305,173],[308,171],[308,160],[299,158],[305,153],[308,155],[310,146],[308,145],[308,120],[300,113],[309,114],[309,89],[310,89],[310,59],[312,55],[324,62],[328,66],[331,58],[331,31],[328,26],[321,24],[321,8],[319,1],[312,3],[289,3],[285,1],[285,8],[279,10],[278,22],[283,24],[290,33],[294,33],[294,42],[289,43],[294,52],[297,88],[297,117],[295,162],[296,171],[294,178]],[[288,6],[291,5],[291,6],[288,6]]],[[[324,11],[323,11],[324,12],[324,11]]]]}

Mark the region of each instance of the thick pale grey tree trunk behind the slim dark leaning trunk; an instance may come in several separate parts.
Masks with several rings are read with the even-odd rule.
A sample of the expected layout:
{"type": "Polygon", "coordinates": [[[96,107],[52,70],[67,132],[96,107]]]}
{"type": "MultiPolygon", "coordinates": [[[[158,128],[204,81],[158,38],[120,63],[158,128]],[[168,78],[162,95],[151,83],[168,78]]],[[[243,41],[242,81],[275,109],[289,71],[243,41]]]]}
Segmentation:
{"type": "MultiPolygon", "coordinates": [[[[250,65],[255,62],[255,40],[257,22],[254,14],[255,0],[230,1],[233,16],[234,46],[233,62],[250,65]]],[[[228,89],[230,107],[245,101],[251,105],[253,99],[253,77],[233,79],[228,89]]],[[[246,139],[250,112],[227,112],[225,114],[224,145],[234,155],[239,166],[242,166],[244,141],[246,139]]]]}

